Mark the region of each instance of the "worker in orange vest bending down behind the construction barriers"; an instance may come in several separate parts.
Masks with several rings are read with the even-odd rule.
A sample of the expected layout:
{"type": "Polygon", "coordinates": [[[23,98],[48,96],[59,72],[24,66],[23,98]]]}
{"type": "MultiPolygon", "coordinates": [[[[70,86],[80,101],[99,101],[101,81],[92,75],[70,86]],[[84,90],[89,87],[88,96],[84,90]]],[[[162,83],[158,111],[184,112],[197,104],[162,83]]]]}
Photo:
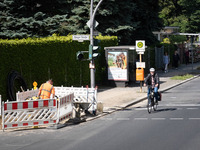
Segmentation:
{"type": "Polygon", "coordinates": [[[38,92],[38,97],[40,99],[49,99],[51,94],[53,98],[55,97],[55,88],[53,87],[52,79],[49,79],[46,83],[43,83],[38,92]]]}

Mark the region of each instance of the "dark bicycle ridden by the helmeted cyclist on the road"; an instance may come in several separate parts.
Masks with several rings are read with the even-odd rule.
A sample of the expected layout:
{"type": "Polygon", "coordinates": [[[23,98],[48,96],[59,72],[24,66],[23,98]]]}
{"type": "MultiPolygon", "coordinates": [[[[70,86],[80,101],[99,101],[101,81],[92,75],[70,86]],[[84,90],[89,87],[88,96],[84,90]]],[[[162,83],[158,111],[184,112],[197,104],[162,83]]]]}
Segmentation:
{"type": "Polygon", "coordinates": [[[152,112],[152,109],[154,111],[157,110],[158,107],[158,102],[156,103],[156,98],[155,98],[155,93],[154,93],[154,88],[150,88],[150,94],[148,96],[148,101],[147,101],[147,111],[150,114],[152,112]]]}

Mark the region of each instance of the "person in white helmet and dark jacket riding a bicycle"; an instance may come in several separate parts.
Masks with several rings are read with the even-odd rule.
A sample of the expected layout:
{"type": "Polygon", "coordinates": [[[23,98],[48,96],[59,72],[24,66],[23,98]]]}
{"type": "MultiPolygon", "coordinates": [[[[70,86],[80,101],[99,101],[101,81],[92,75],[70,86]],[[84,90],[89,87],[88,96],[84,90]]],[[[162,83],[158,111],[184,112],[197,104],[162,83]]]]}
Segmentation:
{"type": "Polygon", "coordinates": [[[156,104],[158,104],[158,89],[160,87],[160,79],[158,77],[158,74],[155,72],[154,68],[150,68],[149,71],[150,73],[147,75],[147,77],[144,80],[144,86],[148,86],[148,93],[147,93],[148,97],[151,92],[151,88],[154,89],[156,104]]]}

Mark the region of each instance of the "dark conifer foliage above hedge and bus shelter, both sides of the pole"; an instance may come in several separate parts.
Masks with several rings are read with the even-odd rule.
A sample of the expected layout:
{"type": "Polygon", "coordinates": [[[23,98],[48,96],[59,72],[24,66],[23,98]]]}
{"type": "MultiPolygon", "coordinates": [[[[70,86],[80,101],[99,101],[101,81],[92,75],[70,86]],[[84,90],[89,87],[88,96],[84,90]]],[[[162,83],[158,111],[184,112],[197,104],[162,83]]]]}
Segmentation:
{"type": "MultiPolygon", "coordinates": [[[[107,0],[97,11],[96,28],[102,35],[116,35],[121,44],[136,39],[152,43],[159,29],[159,0],[107,0]]],[[[99,0],[94,0],[94,8],[99,0]]],[[[2,0],[0,38],[89,34],[90,0],[2,0]]]]}

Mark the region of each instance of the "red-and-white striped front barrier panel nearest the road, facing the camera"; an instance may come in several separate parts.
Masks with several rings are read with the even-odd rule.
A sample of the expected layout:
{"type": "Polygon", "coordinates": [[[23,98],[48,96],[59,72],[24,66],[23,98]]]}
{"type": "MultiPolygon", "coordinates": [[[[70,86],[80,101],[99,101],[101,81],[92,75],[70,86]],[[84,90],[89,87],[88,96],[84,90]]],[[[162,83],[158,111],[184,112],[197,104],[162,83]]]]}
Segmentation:
{"type": "Polygon", "coordinates": [[[55,99],[3,102],[2,129],[49,125],[57,123],[55,99]]]}

